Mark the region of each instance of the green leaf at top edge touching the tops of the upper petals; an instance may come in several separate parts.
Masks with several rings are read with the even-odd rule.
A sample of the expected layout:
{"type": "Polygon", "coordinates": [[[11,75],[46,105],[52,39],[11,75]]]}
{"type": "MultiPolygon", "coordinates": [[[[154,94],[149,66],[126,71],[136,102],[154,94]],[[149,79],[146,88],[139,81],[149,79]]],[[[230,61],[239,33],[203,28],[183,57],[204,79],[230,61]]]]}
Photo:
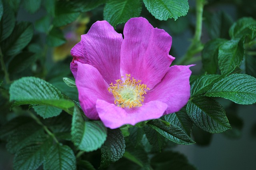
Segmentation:
{"type": "Polygon", "coordinates": [[[104,8],[104,20],[112,26],[140,16],[142,4],[140,0],[108,0],[104,8]]]}

